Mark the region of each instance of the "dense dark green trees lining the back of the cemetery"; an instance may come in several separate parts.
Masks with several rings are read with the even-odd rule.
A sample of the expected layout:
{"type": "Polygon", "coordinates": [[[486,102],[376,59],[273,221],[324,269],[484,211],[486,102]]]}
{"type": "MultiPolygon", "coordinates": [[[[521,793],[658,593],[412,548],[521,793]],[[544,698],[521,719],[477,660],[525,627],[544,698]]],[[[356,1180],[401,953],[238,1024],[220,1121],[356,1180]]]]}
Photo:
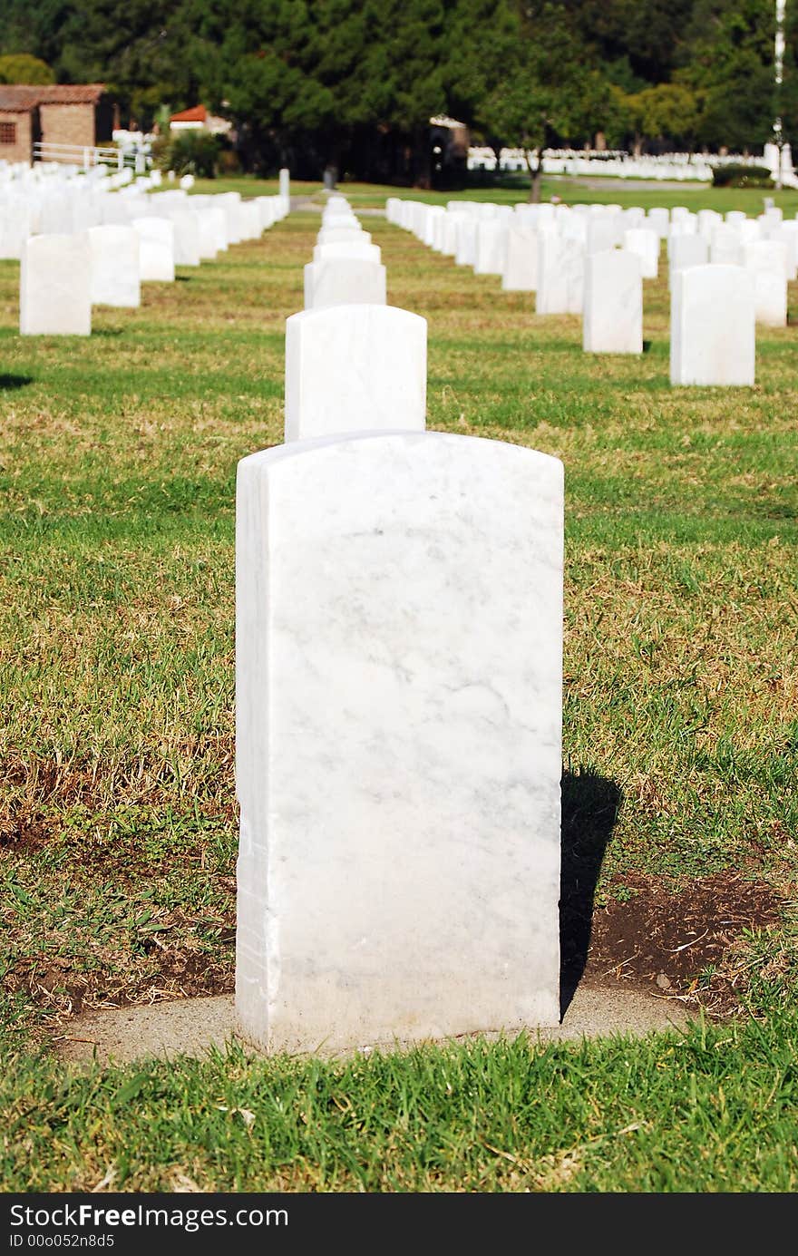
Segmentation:
{"type": "MultiPolygon", "coordinates": [[[[202,102],[251,168],[429,178],[427,122],[529,151],[757,148],[798,138],[798,0],[773,84],[773,0],[0,0],[19,55],[101,80],[123,118],[202,102]]],[[[15,54],[15,55],[11,55],[15,54]]],[[[30,69],[30,62],[26,64],[30,69]]],[[[10,78],[9,78],[10,74],[10,78]]]]}

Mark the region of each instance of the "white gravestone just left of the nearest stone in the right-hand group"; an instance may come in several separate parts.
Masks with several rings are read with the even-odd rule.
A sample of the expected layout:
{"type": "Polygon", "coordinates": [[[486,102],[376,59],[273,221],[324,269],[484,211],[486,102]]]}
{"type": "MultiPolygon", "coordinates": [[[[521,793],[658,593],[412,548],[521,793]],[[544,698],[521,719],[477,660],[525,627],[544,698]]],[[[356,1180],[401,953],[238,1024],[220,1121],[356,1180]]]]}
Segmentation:
{"type": "Polygon", "coordinates": [[[640,257],[607,249],[587,257],[582,348],[586,353],[643,352],[640,257]]]}

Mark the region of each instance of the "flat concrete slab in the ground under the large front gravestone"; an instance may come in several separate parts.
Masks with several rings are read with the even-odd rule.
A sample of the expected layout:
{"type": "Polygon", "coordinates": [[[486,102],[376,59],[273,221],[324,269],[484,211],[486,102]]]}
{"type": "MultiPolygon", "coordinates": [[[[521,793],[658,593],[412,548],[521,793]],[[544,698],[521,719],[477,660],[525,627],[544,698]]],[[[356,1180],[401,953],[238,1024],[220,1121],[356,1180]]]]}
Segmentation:
{"type": "MultiPolygon", "coordinates": [[[[562,1025],[532,1030],[530,1036],[539,1036],[544,1042],[618,1034],[642,1037],[655,1031],[684,1029],[690,1019],[690,1011],[677,999],[618,986],[593,986],[577,990],[562,1025]]],[[[498,1034],[483,1036],[496,1037],[498,1034]]],[[[241,1042],[235,1032],[234,997],[219,995],[88,1012],[70,1021],[54,1046],[65,1063],[85,1066],[94,1059],[104,1065],[148,1056],[201,1056],[210,1048],[224,1050],[231,1041],[241,1042]]],[[[390,1050],[402,1045],[386,1042],[383,1046],[390,1050]]],[[[248,1050],[258,1054],[249,1046],[248,1050]]]]}

